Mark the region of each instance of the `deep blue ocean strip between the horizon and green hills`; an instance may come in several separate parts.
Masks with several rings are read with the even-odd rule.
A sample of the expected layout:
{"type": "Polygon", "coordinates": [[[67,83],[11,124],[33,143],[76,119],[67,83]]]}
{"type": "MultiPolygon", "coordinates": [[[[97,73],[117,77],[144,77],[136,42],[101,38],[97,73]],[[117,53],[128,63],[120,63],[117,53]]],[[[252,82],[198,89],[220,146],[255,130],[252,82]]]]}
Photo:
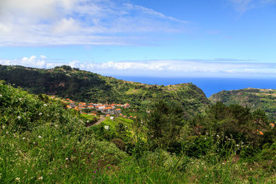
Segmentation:
{"type": "Polygon", "coordinates": [[[276,89],[276,79],[229,79],[229,78],[161,78],[150,76],[114,76],[116,79],[139,83],[173,85],[193,83],[204,91],[207,97],[222,90],[239,90],[244,88],[276,89]]]}

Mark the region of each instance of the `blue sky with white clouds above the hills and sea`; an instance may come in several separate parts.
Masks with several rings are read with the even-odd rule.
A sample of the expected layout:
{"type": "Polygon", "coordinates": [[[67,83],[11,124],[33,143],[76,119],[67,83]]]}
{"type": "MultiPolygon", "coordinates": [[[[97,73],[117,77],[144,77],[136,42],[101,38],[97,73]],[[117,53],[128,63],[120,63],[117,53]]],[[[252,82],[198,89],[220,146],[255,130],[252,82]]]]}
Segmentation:
{"type": "Polygon", "coordinates": [[[0,64],[276,77],[276,0],[1,0],[0,64]]]}

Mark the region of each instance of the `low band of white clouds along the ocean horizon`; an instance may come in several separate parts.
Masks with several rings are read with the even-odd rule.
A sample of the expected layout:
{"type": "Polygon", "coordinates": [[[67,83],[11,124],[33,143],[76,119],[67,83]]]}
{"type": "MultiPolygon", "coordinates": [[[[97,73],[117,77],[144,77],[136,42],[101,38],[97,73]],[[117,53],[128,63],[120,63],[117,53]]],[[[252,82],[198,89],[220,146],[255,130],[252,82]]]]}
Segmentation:
{"type": "MultiPolygon", "coordinates": [[[[34,68],[54,68],[65,63],[50,62],[45,56],[0,60],[2,65],[25,65],[34,68]]],[[[194,59],[158,61],[108,61],[91,63],[71,61],[72,68],[80,68],[104,75],[125,76],[276,76],[276,63],[258,63],[237,59],[194,59]],[[224,62],[221,62],[224,61],[224,62]]]]}

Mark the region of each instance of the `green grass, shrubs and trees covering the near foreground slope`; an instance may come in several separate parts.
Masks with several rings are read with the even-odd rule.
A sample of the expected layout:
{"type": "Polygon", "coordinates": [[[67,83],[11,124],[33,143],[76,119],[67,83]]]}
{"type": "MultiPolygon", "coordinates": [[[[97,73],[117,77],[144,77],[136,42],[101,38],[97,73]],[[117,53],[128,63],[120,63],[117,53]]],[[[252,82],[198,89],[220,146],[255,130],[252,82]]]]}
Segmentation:
{"type": "Polygon", "coordinates": [[[219,102],[186,119],[161,100],[137,119],[87,126],[62,101],[4,81],[0,106],[0,183],[275,183],[263,110],[219,102]]]}

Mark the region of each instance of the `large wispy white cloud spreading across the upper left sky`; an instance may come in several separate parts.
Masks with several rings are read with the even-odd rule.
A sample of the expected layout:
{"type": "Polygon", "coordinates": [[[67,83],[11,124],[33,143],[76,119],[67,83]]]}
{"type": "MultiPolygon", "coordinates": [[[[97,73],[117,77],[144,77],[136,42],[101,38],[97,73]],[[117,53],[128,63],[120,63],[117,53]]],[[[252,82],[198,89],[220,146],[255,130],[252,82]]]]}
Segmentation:
{"type": "Polygon", "coordinates": [[[0,34],[0,46],[126,45],[138,40],[133,37],[137,33],[184,32],[189,26],[187,21],[122,1],[0,1],[0,33],[5,33],[0,34]]]}

